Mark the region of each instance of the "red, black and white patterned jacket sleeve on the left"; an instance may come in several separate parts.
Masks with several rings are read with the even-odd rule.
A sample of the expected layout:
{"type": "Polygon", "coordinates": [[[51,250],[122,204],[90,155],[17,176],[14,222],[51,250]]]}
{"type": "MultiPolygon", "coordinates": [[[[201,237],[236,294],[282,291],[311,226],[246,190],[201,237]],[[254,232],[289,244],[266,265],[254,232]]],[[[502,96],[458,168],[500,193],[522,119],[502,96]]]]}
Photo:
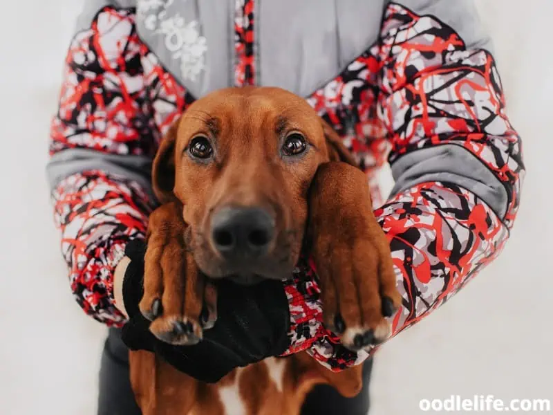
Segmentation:
{"type": "MultiPolygon", "coordinates": [[[[81,19],[82,21],[82,19],[81,19]]],[[[104,8],[75,35],[50,131],[48,178],[71,288],[86,313],[120,326],[113,270],[143,237],[156,143],[132,10],[104,8]]]]}

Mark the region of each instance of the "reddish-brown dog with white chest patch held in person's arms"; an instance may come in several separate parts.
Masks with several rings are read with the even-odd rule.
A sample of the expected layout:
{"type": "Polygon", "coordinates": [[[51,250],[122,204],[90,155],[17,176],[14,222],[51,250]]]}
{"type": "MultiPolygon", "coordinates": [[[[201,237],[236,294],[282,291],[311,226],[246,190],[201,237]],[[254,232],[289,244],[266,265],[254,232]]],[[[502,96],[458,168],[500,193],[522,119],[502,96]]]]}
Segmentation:
{"type": "MultiPolygon", "coordinates": [[[[162,205],[150,218],[140,302],[152,333],[194,344],[214,324],[216,291],[198,269],[240,284],[284,279],[306,243],[326,326],[354,350],[384,340],[383,307],[399,306],[400,296],[366,176],[353,164],[332,128],[292,93],[225,89],[194,102],[153,163],[162,205]]],[[[333,373],[305,353],[236,369],[215,385],[146,351],[131,352],[130,362],[144,415],[298,414],[317,383],[344,396],[361,387],[359,367],[333,373]]]]}

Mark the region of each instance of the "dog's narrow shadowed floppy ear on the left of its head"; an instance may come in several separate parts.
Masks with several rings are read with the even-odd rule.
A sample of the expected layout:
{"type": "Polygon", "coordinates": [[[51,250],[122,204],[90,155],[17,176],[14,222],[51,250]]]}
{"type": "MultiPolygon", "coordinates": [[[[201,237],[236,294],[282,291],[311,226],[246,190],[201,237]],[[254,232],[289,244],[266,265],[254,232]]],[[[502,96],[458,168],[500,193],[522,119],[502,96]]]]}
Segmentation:
{"type": "Polygon", "coordinates": [[[153,193],[160,203],[175,199],[175,142],[177,138],[178,120],[171,125],[169,131],[161,140],[160,147],[153,158],[151,180],[153,193]]]}

